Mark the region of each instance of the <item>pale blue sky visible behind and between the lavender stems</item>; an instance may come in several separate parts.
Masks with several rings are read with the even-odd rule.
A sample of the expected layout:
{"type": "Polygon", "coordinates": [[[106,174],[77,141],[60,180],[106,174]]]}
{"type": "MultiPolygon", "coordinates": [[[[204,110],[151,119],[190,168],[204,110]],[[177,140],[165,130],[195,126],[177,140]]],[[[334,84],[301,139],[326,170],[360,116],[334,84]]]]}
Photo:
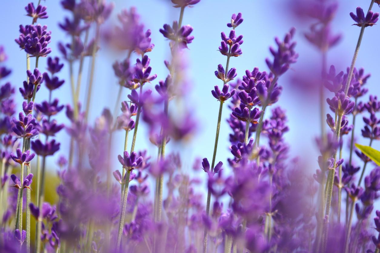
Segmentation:
{"type": "MultiPolygon", "coordinates": [[[[36,1],[35,1],[36,2],[36,1]]],[[[353,20],[349,16],[350,11],[355,11],[358,5],[363,9],[367,9],[370,1],[345,0],[341,1],[337,16],[333,21],[333,31],[342,33],[342,40],[338,46],[328,52],[328,66],[335,64],[337,69],[345,70],[351,63],[353,51],[359,35],[360,28],[352,26],[353,20]]],[[[19,25],[30,24],[31,18],[25,16],[24,6],[28,1],[17,0],[7,1],[0,8],[0,17],[2,17],[3,25],[0,26],[0,44],[5,47],[9,58],[6,62],[8,68],[13,70],[11,77],[6,79],[17,87],[22,86],[25,80],[25,52],[19,50],[14,39],[19,36],[19,25]]],[[[41,24],[46,24],[48,29],[52,31],[52,42],[49,46],[52,53],[49,56],[60,56],[57,50],[59,41],[69,42],[69,38],[58,27],[58,23],[62,22],[65,16],[70,13],[63,10],[57,0],[42,1],[47,6],[48,19],[39,20],[41,24]]],[[[267,1],[248,1],[236,0],[231,1],[220,0],[202,0],[193,8],[186,8],[184,13],[183,24],[190,24],[194,28],[192,35],[195,39],[188,45],[187,64],[188,64],[188,83],[192,86],[190,99],[186,101],[188,107],[193,108],[193,112],[198,120],[198,131],[192,140],[183,143],[183,145],[175,145],[172,141],[169,143],[167,150],[181,152],[182,164],[184,170],[192,167],[195,157],[212,158],[214,147],[215,129],[218,114],[219,102],[211,95],[214,85],[220,85],[221,81],[214,75],[218,64],[225,66],[226,57],[221,55],[217,49],[220,45],[220,32],[228,33],[230,28],[226,23],[230,22],[231,14],[242,12],[244,22],[236,28],[237,34],[244,36],[244,43],[241,45],[243,54],[241,57],[231,58],[230,67],[237,69],[237,76],[242,77],[245,69],[252,71],[254,67],[258,67],[260,71],[268,71],[265,64],[265,58],[271,57],[269,46],[275,46],[274,37],[279,36],[281,39],[285,33],[291,28],[296,27],[295,36],[298,41],[296,50],[299,52],[298,63],[291,66],[291,69],[280,78],[279,84],[283,86],[283,93],[276,105],[281,106],[287,111],[288,124],[290,132],[285,137],[291,145],[291,157],[299,157],[304,160],[305,170],[310,170],[310,174],[317,168],[318,151],[315,147],[315,137],[320,132],[319,109],[316,93],[305,89],[305,86],[296,85],[292,81],[294,75],[304,75],[307,71],[320,71],[320,55],[318,51],[311,46],[303,33],[307,31],[307,24],[303,24],[300,20],[294,19],[290,11],[291,1],[285,0],[267,0],[267,1]],[[307,90],[307,92],[305,92],[307,90]]],[[[179,8],[173,8],[170,1],[167,0],[144,0],[144,1],[114,1],[115,8],[112,12],[111,19],[103,27],[110,27],[112,21],[116,20],[117,13],[124,8],[136,6],[141,20],[144,22],[146,29],[152,30],[152,42],[155,44],[154,50],[148,54],[150,57],[150,66],[152,73],[157,73],[158,78],[147,84],[146,88],[154,90],[154,85],[158,80],[165,79],[168,74],[163,61],[170,59],[168,41],[163,38],[159,29],[163,24],[172,24],[173,20],[179,17],[179,8]]],[[[374,11],[379,11],[377,5],[374,5],[374,11]]],[[[366,72],[370,72],[372,77],[367,82],[370,94],[379,94],[380,88],[378,81],[380,79],[378,59],[380,50],[378,48],[380,41],[380,31],[378,26],[366,28],[362,46],[356,66],[364,67],[366,72]]],[[[101,114],[103,107],[113,110],[115,106],[116,94],[119,89],[117,79],[112,71],[112,63],[115,60],[123,60],[126,55],[115,53],[107,50],[105,45],[98,53],[96,61],[95,82],[93,89],[92,106],[90,111],[90,122],[101,114]]],[[[133,55],[131,59],[136,58],[133,55]]],[[[133,60],[134,61],[134,60],[133,60]]],[[[40,59],[40,70],[46,69],[46,58],[40,59]]],[[[31,66],[34,67],[34,59],[31,60],[31,66]]],[[[85,60],[84,77],[82,79],[82,91],[80,94],[81,101],[84,101],[85,88],[87,85],[87,72],[89,69],[89,59],[85,60]]],[[[68,79],[68,66],[63,68],[59,76],[66,80],[65,84],[53,92],[53,98],[58,97],[63,104],[71,103],[70,82],[68,79]]],[[[326,91],[328,93],[328,91],[326,91]]],[[[129,90],[124,89],[122,98],[127,100],[129,90]]],[[[37,94],[36,101],[41,102],[47,99],[48,93],[43,86],[37,94]]],[[[329,93],[331,96],[331,93],[329,93]]],[[[367,101],[368,96],[364,96],[363,101],[367,101]]],[[[16,99],[19,102],[21,110],[22,97],[16,91],[16,99]]],[[[327,108],[326,111],[328,112],[327,108]]],[[[228,134],[230,127],[225,119],[228,118],[230,111],[225,105],[223,110],[223,121],[220,130],[220,140],[218,145],[218,153],[216,160],[226,163],[226,159],[231,157],[229,151],[228,134]]],[[[362,116],[358,117],[358,127],[356,135],[359,137],[359,128],[363,126],[362,116]]],[[[67,123],[65,113],[61,112],[56,119],[60,122],[67,123]]],[[[351,121],[351,117],[350,117],[351,121]]],[[[68,154],[68,135],[65,131],[57,136],[62,142],[62,149],[58,154],[68,154]]],[[[131,137],[131,135],[130,135],[131,137]]],[[[146,127],[139,127],[138,142],[136,149],[147,148],[151,156],[155,159],[157,149],[149,143],[147,138],[146,127]]],[[[115,135],[116,143],[113,147],[114,163],[119,167],[116,157],[122,153],[124,134],[118,132],[115,135]]],[[[265,140],[262,140],[264,143],[265,140]]],[[[367,145],[368,140],[358,138],[358,142],[367,145]]],[[[375,148],[380,148],[378,141],[374,141],[375,148]]],[[[58,155],[57,154],[57,155],[58,155]]],[[[346,152],[347,154],[347,152],[346,152]]],[[[55,158],[48,159],[52,166],[55,158]]],[[[358,165],[362,163],[358,162],[358,165]]],[[[200,165],[199,165],[200,166],[200,165]]],[[[369,171],[367,169],[367,171],[369,171]]]]}

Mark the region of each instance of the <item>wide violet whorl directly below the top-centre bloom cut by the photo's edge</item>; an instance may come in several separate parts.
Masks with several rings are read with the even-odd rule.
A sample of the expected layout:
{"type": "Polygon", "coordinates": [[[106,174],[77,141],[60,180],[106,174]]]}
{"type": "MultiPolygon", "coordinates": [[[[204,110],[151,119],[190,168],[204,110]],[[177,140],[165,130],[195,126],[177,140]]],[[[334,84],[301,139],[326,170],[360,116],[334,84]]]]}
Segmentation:
{"type": "Polygon", "coordinates": [[[162,33],[165,38],[178,43],[181,49],[187,48],[187,44],[193,41],[194,36],[190,36],[192,31],[193,28],[190,25],[184,25],[179,28],[177,21],[173,22],[173,26],[165,24],[163,29],[160,29],[160,33],[162,33]]]}

